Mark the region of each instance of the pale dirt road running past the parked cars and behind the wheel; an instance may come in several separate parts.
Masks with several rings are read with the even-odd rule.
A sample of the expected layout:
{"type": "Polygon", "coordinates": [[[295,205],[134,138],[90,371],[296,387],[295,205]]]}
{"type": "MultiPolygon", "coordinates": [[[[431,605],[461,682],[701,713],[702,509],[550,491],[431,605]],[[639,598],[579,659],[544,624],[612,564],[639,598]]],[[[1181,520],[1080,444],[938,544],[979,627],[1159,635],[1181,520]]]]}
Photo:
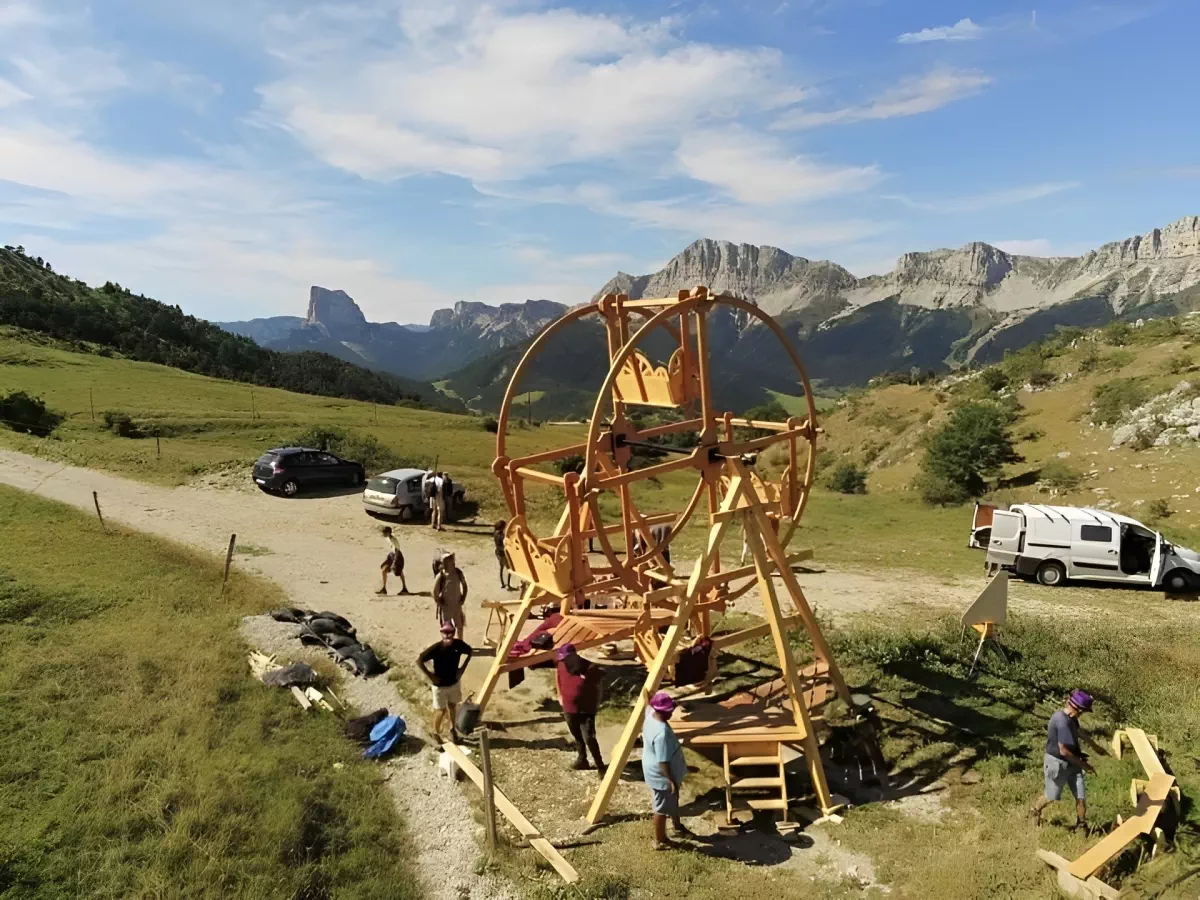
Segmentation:
{"type": "MultiPolygon", "coordinates": [[[[400,526],[408,586],[415,593],[374,596],[386,548],[380,523],[366,516],[358,494],[284,499],[254,490],[248,478],[241,487],[160,487],[13,451],[0,451],[0,482],[88,511],[96,491],[106,518],[214,554],[223,553],[230,532],[236,533],[240,546],[260,552],[236,556],[239,569],[271,578],[295,606],[342,613],[368,641],[402,662],[437,640],[428,590],[430,563],[439,548],[452,547],[467,575],[467,634],[473,644],[482,646],[486,617],[479,601],[515,596],[498,583],[488,528],[468,523],[456,523],[443,534],[420,523],[400,526]]],[[[976,578],[948,581],[907,570],[844,571],[822,569],[818,562],[799,581],[809,602],[834,622],[862,622],[926,614],[932,619],[947,610],[965,608],[983,578],[982,572],[976,578]]],[[[1013,608],[1032,613],[1096,608],[1082,602],[1082,594],[1076,607],[1063,592],[1055,592],[1052,604],[1034,595],[1038,593],[1045,590],[1014,584],[1013,608]]],[[[757,600],[748,595],[742,608],[756,611],[757,600]]],[[[484,670],[468,670],[468,689],[472,679],[482,679],[484,670]]]]}

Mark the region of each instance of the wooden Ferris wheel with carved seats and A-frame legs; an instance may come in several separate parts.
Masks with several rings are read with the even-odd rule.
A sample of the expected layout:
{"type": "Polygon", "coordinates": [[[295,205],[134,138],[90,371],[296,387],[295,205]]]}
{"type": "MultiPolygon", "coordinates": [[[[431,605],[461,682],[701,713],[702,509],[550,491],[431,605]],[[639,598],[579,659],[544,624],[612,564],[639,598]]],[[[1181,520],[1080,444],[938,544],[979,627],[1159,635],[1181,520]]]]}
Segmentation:
{"type": "MultiPolygon", "coordinates": [[[[792,628],[803,626],[808,631],[817,658],[817,665],[810,667],[809,682],[815,683],[818,677],[826,679],[850,706],[852,701],[841,672],[792,572],[792,564],[809,554],[790,556],[786,550],[812,485],[817,434],[811,386],[784,330],[754,304],[733,296],[713,296],[703,287],[654,300],[607,294],[547,326],[514,370],[500,408],[492,472],[511,514],[505,528],[505,550],[511,570],[524,588],[505,635],[497,644],[496,659],[478,702],[486,709],[503,673],[553,659],[553,650],[545,648],[512,655],[522,628],[539,604],[557,602],[562,619],[553,630],[554,647],[574,643],[577,649],[584,649],[617,640],[634,641],[648,673],[629,721],[611,751],[608,770],[588,812],[590,822],[604,816],[641,731],[647,702],[670,677],[685,642],[709,638],[712,613],[722,612],[730,600],[755,584],[762,594],[766,623],[742,632],[714,636],[714,643],[726,647],[740,640],[772,636],[787,694],[787,721],[776,727],[778,716],[769,722],[760,716],[756,725],[752,709],[742,708],[738,720],[743,724],[728,726],[727,737],[739,739],[733,731],[740,728],[745,732],[743,740],[772,740],[776,734],[776,743],[798,746],[804,752],[822,814],[829,815],[835,809],[826,784],[816,726],[805,702],[805,690],[809,696],[816,691],[814,684],[803,683],[788,642],[792,628]],[[806,415],[774,422],[716,410],[708,329],[709,318],[721,307],[757,319],[774,334],[794,366],[806,415]],[[587,438],[583,443],[510,457],[508,425],[518,385],[532,360],[563,329],[593,316],[601,319],[605,329],[608,372],[598,391],[587,438]],[[644,319],[636,331],[631,328],[634,316],[644,319]],[[666,365],[656,365],[642,347],[648,337],[660,336],[662,331],[670,336],[674,350],[666,365]],[[636,407],[677,410],[676,420],[640,427],[636,407]],[[689,432],[695,436],[694,440],[683,445],[654,443],[689,432]],[[782,474],[778,480],[764,480],[755,472],[755,462],[758,454],[774,446],[784,448],[782,474]],[[631,464],[635,449],[649,450],[660,458],[668,455],[674,458],[635,468],[631,464]],[[535,468],[570,457],[583,457],[581,472],[557,474],[535,468]],[[634,497],[634,485],[674,472],[691,472],[697,476],[685,508],[677,512],[643,515],[634,497]],[[539,536],[528,521],[526,486],[529,484],[550,485],[563,492],[562,515],[550,535],[539,536]],[[606,523],[600,505],[605,493],[616,497],[619,522],[606,523]],[[707,528],[707,536],[690,574],[682,577],[668,562],[667,551],[694,518],[707,528]],[[734,523],[743,526],[754,563],[724,569],[721,545],[734,523]],[[670,526],[668,533],[665,538],[660,533],[655,540],[652,528],[664,524],[670,526]],[[599,560],[592,559],[589,541],[599,544],[599,560]],[[774,582],[776,575],[796,613],[786,618],[774,582]],[[749,581],[732,586],[737,580],[749,581]],[[607,608],[590,608],[601,604],[607,608]]],[[[712,677],[712,667],[709,672],[712,677]]],[[[821,695],[826,696],[826,691],[821,695]]],[[[714,730],[718,734],[725,733],[722,727],[722,720],[714,719],[704,731],[712,737],[714,730]]],[[[682,732],[682,738],[686,743],[686,733],[682,732]]],[[[785,796],[785,815],[786,804],[785,796]]]]}

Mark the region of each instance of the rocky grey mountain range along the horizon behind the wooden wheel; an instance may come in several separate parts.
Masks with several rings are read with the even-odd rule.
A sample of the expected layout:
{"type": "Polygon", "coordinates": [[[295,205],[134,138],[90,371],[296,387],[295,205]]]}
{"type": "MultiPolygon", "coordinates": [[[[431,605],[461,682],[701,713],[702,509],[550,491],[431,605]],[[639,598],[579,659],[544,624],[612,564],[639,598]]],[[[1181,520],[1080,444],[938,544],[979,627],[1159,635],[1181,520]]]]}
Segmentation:
{"type": "MultiPolygon", "coordinates": [[[[809,374],[833,388],[889,371],[989,362],[1063,325],[1170,314],[1200,300],[1200,217],[1105,244],[1079,257],[1007,253],[983,242],[905,253],[887,275],[858,278],[828,260],[769,246],[701,239],[649,275],[618,272],[600,290],[631,299],[707,284],[756,302],[798,346],[809,374]]],[[[313,287],[308,313],[218,323],[272,349],[318,349],[422,380],[494,409],[528,341],[568,307],[547,300],[460,302],[424,331],[368,323],[341,290],[313,287]]],[[[710,326],[719,391],[734,406],[796,394],[774,338],[742,316],[710,326]]],[[[600,329],[581,324],[522,385],[542,416],[590,407],[604,376],[600,329]],[[593,359],[595,358],[595,359],[593,359]]]]}

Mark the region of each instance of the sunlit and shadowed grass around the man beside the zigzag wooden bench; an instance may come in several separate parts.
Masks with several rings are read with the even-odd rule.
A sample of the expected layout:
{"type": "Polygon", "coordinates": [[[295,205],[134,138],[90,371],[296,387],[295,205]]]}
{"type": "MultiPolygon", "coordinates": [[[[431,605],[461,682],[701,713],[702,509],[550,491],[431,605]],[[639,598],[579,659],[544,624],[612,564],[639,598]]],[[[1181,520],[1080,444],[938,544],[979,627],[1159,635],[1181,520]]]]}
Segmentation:
{"type": "MultiPolygon", "coordinates": [[[[925,822],[894,810],[852,811],[842,842],[872,856],[901,896],[1049,896],[1040,846],[1076,857],[1098,836],[1069,833],[1072,804],[1048,809],[1036,830],[1028,806],[1040,792],[1046,720],[1066,694],[1081,686],[1097,700],[1084,731],[1108,744],[1112,731],[1136,726],[1157,734],[1184,797],[1176,852],[1136,874],[1132,845],[1100,875],[1136,896],[1163,889],[1200,853],[1200,631],[1159,622],[1145,626],[1010,619],[1002,640],[1008,662],[989,659],[968,676],[959,629],[944,620],[923,631],[858,631],[834,636],[848,680],[878,701],[887,722],[884,755],[905,779],[944,785],[947,811],[925,822]],[[974,770],[978,784],[961,775],[974,770]]],[[[1145,778],[1133,754],[1092,756],[1088,818],[1109,827],[1128,816],[1129,780],[1145,778]]],[[[1193,880],[1160,896],[1195,896],[1193,880]]]]}

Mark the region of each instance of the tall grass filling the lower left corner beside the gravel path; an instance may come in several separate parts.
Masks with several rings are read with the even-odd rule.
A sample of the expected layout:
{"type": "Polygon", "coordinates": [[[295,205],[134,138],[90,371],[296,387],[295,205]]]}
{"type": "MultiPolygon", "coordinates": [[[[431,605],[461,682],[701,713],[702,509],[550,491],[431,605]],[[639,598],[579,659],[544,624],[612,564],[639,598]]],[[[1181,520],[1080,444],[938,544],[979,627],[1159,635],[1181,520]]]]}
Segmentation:
{"type": "Polygon", "coordinates": [[[272,586],[7,487],[0,533],[0,895],[419,895],[377,769],[250,677],[272,586]]]}

